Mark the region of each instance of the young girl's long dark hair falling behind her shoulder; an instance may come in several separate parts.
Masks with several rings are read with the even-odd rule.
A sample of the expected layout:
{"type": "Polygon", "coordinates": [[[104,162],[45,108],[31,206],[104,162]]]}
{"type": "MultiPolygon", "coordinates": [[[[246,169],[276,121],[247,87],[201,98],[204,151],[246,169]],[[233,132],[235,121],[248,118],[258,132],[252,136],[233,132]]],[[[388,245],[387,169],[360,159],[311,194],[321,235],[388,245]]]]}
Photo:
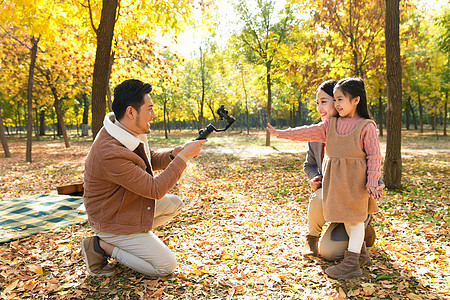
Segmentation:
{"type": "Polygon", "coordinates": [[[361,78],[348,77],[341,79],[336,83],[334,90],[336,89],[341,89],[342,93],[351,99],[359,96],[356,112],[361,118],[372,119],[372,115],[367,108],[367,96],[364,81],[361,78]]]}

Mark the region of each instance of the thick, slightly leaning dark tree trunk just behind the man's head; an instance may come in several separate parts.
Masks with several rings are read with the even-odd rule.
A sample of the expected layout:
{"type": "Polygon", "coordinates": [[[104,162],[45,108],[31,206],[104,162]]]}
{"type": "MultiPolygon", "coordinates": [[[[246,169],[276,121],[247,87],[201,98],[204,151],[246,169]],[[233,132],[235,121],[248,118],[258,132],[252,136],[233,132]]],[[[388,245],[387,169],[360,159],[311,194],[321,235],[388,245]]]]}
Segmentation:
{"type": "Polygon", "coordinates": [[[117,5],[118,0],[103,0],[97,30],[97,51],[92,76],[92,135],[94,139],[103,126],[103,118],[106,114],[106,89],[109,84],[108,72],[117,5]]]}

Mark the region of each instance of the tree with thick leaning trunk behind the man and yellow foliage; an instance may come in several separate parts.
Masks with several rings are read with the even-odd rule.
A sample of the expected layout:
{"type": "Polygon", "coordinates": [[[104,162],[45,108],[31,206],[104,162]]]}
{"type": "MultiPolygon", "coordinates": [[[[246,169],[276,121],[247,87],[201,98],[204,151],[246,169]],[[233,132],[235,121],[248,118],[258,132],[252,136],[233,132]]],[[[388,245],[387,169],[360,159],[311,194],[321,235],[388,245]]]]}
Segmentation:
{"type": "Polygon", "coordinates": [[[112,67],[112,41],[127,40],[135,36],[152,36],[156,31],[178,32],[189,19],[190,3],[187,1],[144,0],[122,3],[123,0],[84,0],[89,26],[97,40],[92,78],[92,133],[95,137],[103,126],[106,113],[106,94],[112,67]],[[122,5],[123,4],[123,5],[122,5]],[[101,13],[98,11],[101,7],[101,13]],[[100,20],[98,21],[100,14],[100,20]],[[98,26],[96,25],[98,23],[98,26]],[[117,29],[117,30],[116,30],[117,29]]]}

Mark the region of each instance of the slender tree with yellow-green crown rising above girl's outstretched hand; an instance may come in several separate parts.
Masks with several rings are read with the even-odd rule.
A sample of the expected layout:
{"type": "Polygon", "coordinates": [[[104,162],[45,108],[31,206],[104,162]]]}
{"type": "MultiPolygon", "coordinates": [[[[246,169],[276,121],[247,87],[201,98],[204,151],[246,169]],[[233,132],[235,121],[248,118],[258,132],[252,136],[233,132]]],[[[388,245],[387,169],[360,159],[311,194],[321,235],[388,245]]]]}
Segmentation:
{"type": "MultiPolygon", "coordinates": [[[[293,20],[289,8],[280,14],[279,22],[275,22],[275,1],[257,0],[255,13],[247,3],[235,6],[244,27],[239,34],[239,40],[245,49],[246,59],[254,64],[264,65],[266,69],[267,87],[267,123],[271,121],[272,112],[272,64],[278,55],[281,42],[288,35],[293,20]]],[[[266,146],[270,146],[270,132],[266,131],[266,146]]]]}

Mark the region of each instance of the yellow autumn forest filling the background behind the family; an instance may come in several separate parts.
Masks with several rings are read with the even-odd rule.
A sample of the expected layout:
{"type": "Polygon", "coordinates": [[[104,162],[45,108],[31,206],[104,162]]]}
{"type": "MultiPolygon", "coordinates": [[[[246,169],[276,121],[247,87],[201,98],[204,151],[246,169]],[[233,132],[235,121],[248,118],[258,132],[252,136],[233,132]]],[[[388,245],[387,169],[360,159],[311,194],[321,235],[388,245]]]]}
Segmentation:
{"type": "MultiPolygon", "coordinates": [[[[34,130],[37,139],[63,136],[67,147],[67,129],[88,136],[92,128],[95,136],[111,110],[113,87],[127,78],[153,84],[154,128],[167,137],[170,130],[216,122],[220,104],[236,117],[234,128],[247,133],[264,130],[267,121],[278,127],[314,123],[318,84],[359,76],[382,135],[387,119],[384,2],[281,3],[105,1],[104,7],[114,7],[108,25],[106,17],[100,20],[107,13],[101,1],[0,2],[5,153],[5,135],[25,131],[31,136],[34,130]],[[110,36],[101,40],[108,30],[110,36]],[[195,42],[180,42],[187,30],[195,42]]],[[[432,7],[400,3],[401,118],[407,129],[423,132],[429,124],[446,135],[449,7],[448,2],[432,7]]]]}

